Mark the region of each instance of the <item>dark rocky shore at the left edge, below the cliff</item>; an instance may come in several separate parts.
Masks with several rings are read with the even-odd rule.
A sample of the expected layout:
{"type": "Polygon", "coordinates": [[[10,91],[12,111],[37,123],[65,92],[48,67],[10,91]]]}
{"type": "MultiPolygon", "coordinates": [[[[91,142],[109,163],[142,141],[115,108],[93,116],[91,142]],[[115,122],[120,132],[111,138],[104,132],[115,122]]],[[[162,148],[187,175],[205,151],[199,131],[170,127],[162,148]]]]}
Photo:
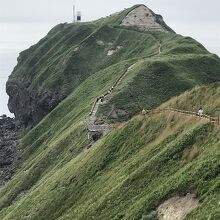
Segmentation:
{"type": "Polygon", "coordinates": [[[14,173],[19,158],[17,140],[20,131],[15,119],[0,116],[0,186],[14,173]]]}

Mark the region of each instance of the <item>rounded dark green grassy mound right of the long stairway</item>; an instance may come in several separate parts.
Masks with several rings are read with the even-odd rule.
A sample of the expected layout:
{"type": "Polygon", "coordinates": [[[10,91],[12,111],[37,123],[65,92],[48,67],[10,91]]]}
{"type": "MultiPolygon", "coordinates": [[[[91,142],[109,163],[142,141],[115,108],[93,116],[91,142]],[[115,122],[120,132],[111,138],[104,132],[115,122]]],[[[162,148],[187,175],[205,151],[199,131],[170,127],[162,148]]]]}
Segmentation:
{"type": "Polygon", "coordinates": [[[123,87],[100,108],[99,117],[111,122],[126,121],[143,108],[156,108],[196,85],[219,81],[218,60],[210,54],[143,58],[130,71],[123,87]]]}

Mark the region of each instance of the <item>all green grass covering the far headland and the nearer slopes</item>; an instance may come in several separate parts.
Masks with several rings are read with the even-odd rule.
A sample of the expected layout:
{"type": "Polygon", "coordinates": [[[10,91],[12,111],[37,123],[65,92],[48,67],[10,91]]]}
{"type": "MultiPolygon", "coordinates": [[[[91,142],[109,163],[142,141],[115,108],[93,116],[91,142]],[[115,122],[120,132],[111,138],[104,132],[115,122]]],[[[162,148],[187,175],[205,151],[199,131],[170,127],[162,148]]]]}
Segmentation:
{"type": "Polygon", "coordinates": [[[19,166],[0,189],[0,219],[155,219],[163,201],[189,192],[200,205],[186,219],[220,218],[219,125],[139,114],[162,104],[218,115],[219,58],[191,38],[128,30],[111,19],[58,25],[21,53],[11,79],[68,97],[20,140],[19,166]],[[132,64],[99,110],[117,128],[87,149],[84,122],[94,100],[132,64]]]}

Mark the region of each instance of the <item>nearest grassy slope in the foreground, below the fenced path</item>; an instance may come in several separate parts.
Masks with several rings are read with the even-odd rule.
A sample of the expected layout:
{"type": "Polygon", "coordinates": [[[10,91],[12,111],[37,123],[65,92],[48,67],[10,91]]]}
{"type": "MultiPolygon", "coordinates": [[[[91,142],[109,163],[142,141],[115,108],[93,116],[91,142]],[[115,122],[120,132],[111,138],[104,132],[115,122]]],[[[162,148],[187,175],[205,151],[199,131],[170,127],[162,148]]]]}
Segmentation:
{"type": "MultiPolygon", "coordinates": [[[[83,141],[81,128],[76,127],[69,130],[75,133],[72,140],[75,143],[78,140],[80,145],[83,141]]],[[[90,150],[78,156],[73,154],[72,158],[66,147],[58,151],[59,144],[53,140],[49,154],[53,167],[47,170],[42,165],[43,161],[39,160],[42,151],[35,152],[33,158],[29,155],[29,164],[36,164],[42,176],[30,187],[35,172],[33,167],[25,172],[28,160],[24,162],[23,169],[0,192],[4,195],[0,199],[1,206],[10,205],[1,210],[0,217],[141,219],[173,193],[191,191],[198,195],[201,206],[188,219],[198,216],[215,219],[219,199],[218,132],[219,128],[200,120],[174,116],[171,123],[166,115],[155,115],[135,117],[90,150]],[[195,145],[199,153],[187,159],[185,152],[195,145]],[[13,203],[6,203],[8,194],[17,193],[22,176],[30,188],[20,192],[13,203]],[[202,207],[207,204],[210,209],[205,211],[202,207]]],[[[63,135],[62,138],[65,146],[68,139],[63,135]]],[[[44,161],[50,163],[48,158],[44,161]]]]}

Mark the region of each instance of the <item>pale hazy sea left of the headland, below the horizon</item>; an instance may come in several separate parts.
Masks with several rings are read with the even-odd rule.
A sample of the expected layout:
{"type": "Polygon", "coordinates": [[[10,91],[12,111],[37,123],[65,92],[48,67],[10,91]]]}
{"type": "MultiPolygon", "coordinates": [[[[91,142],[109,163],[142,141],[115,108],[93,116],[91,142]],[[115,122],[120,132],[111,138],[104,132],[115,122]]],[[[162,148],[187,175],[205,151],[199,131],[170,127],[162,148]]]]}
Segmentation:
{"type": "Polygon", "coordinates": [[[6,81],[17,64],[19,53],[37,43],[55,23],[0,23],[0,115],[8,110],[6,81]]]}

